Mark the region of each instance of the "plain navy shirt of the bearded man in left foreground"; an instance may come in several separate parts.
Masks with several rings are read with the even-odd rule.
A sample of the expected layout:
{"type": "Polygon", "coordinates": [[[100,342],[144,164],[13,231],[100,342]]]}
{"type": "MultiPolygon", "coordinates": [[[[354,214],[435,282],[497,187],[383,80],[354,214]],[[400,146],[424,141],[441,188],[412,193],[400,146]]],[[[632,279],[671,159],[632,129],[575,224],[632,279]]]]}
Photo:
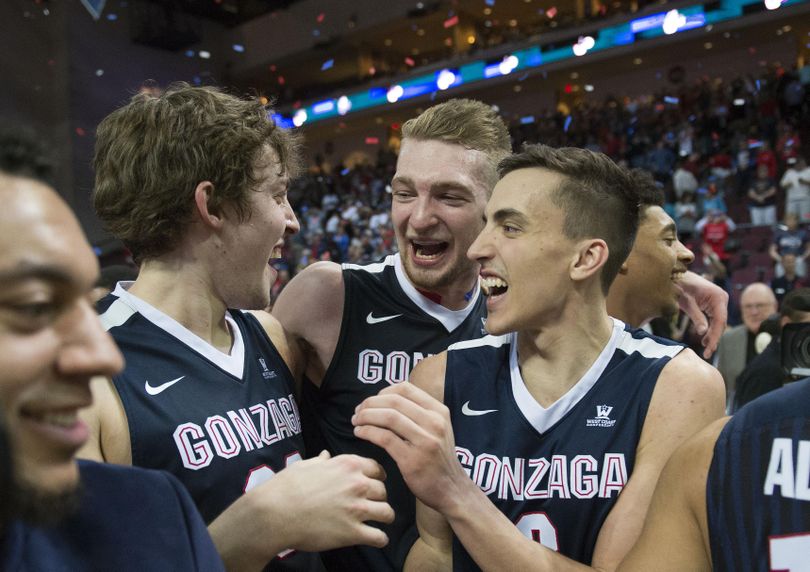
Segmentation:
{"type": "Polygon", "coordinates": [[[55,526],[8,524],[0,570],[221,572],[188,492],[159,471],[79,461],[75,513],[55,526]]]}

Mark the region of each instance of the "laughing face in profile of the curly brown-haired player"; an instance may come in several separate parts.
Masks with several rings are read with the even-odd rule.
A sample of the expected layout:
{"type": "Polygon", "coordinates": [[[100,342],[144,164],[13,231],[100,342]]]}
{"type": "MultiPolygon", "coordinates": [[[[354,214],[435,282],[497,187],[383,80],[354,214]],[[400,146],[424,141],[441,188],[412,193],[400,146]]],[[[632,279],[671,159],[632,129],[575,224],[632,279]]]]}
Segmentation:
{"type": "Polygon", "coordinates": [[[226,305],[246,310],[270,303],[277,275],[272,264],[281,257],[285,237],[300,228],[287,199],[289,180],[276,152],[265,147],[255,168],[259,184],[248,191],[250,215],[242,221],[235,214],[226,217],[216,277],[226,305]]]}

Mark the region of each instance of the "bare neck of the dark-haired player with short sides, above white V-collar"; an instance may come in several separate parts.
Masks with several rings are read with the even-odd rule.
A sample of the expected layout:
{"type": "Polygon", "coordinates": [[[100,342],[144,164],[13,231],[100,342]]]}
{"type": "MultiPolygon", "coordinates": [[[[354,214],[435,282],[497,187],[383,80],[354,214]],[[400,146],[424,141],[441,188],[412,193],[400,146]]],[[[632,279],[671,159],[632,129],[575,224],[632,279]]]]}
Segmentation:
{"type": "Polygon", "coordinates": [[[582,379],[605,349],[613,322],[604,311],[581,313],[517,335],[518,364],[526,388],[547,408],[582,379]]]}

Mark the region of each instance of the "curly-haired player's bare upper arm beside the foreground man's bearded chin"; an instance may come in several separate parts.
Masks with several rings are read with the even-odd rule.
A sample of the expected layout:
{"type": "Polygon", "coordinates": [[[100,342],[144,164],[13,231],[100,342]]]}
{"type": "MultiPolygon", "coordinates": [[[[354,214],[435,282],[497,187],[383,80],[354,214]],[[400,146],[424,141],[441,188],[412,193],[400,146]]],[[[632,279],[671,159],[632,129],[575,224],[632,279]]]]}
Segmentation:
{"type": "Polygon", "coordinates": [[[94,377],[90,381],[90,390],[93,393],[93,404],[79,412],[90,430],[90,437],[76,456],[99,462],[131,465],[129,422],[112,380],[94,377]]]}

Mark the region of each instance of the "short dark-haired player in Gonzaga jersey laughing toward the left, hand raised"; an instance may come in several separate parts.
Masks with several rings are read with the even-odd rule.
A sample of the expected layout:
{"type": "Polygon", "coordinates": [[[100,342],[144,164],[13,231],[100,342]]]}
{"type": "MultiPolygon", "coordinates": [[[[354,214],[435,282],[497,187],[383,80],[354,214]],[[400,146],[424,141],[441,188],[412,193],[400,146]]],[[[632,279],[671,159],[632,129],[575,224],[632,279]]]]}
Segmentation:
{"type": "Polygon", "coordinates": [[[638,226],[626,170],[542,145],[500,168],[469,251],[494,335],[367,399],[355,433],[422,503],[407,568],[613,569],[672,451],[722,415],[722,380],[607,314],[638,226]]]}

